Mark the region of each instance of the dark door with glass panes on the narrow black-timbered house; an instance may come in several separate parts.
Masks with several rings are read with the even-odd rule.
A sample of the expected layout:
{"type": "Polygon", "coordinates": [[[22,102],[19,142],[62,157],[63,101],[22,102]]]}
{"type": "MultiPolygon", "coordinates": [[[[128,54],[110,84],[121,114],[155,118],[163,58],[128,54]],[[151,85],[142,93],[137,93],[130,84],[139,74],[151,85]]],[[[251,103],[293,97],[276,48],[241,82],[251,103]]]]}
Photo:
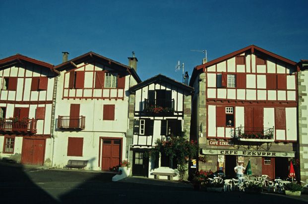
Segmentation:
{"type": "Polygon", "coordinates": [[[133,151],[132,162],[133,176],[148,177],[149,157],[145,156],[144,151],[133,151]]]}

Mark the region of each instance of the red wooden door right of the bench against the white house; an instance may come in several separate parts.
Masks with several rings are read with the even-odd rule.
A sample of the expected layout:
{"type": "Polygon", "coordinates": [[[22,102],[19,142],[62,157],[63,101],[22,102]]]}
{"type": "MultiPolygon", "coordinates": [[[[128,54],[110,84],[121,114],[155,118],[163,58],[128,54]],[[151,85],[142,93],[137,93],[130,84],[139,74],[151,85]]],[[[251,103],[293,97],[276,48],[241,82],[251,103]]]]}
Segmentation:
{"type": "Polygon", "coordinates": [[[121,161],[121,140],[103,139],[102,170],[118,166],[121,161]]]}

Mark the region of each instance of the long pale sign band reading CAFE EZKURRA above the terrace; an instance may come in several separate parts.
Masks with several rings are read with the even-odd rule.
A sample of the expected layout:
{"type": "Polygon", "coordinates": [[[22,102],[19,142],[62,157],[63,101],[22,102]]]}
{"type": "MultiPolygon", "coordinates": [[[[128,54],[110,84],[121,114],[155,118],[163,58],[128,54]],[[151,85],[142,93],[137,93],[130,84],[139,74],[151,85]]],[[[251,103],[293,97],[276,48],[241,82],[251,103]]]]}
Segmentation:
{"type": "Polygon", "coordinates": [[[251,150],[230,150],[230,149],[202,149],[202,154],[212,155],[241,155],[241,156],[269,156],[269,157],[294,157],[294,151],[251,151],[251,150]]]}

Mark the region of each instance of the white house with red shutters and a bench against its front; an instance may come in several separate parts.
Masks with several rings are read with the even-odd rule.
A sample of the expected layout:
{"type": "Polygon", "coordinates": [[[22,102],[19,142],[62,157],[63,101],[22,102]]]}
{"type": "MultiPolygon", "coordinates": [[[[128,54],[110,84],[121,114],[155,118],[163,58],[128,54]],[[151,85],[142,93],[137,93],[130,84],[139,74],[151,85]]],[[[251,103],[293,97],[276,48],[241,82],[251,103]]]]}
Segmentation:
{"type": "MultiPolygon", "coordinates": [[[[137,59],[133,56],[129,61],[136,65],[137,59]]],[[[127,90],[141,81],[135,69],[93,52],[55,69],[61,75],[57,85],[54,166],[63,167],[68,160],[87,160],[85,168],[93,170],[118,166],[127,158],[127,90]]]]}

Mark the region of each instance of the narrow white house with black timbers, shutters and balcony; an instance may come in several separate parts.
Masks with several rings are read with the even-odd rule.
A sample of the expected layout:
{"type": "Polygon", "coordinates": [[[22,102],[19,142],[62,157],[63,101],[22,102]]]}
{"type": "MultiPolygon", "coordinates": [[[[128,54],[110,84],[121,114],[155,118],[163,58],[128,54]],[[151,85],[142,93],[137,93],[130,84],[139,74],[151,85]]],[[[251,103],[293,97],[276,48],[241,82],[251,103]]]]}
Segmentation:
{"type": "Polygon", "coordinates": [[[189,139],[193,88],[158,74],[130,87],[129,91],[127,136],[132,138],[129,148],[132,175],[154,178],[153,173],[162,173],[161,178],[167,179],[168,173],[177,173],[175,160],[167,155],[154,160],[146,152],[157,139],[168,140],[172,135],[189,139]]]}

